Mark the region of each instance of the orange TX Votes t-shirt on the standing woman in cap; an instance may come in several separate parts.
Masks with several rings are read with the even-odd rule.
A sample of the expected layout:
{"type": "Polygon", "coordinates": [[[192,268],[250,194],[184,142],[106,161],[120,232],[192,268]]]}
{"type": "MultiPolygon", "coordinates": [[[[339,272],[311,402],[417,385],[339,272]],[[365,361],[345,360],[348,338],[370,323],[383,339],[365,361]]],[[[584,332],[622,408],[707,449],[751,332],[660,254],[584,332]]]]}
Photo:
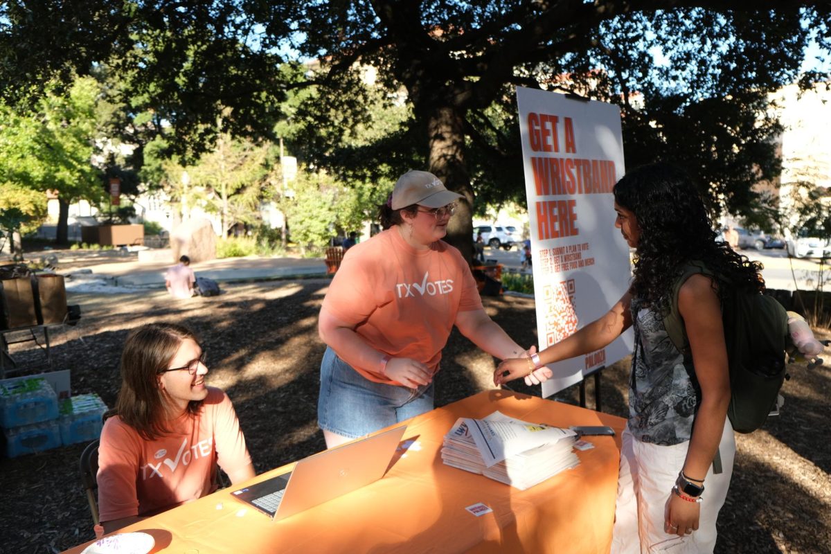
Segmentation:
{"type": "MultiPolygon", "coordinates": [[[[482,299],[460,252],[444,241],[416,250],[389,228],[350,248],[332,279],[323,307],[377,351],[435,369],[460,311],[482,299]]],[[[366,379],[399,385],[375,368],[356,367],[366,379]]]]}

